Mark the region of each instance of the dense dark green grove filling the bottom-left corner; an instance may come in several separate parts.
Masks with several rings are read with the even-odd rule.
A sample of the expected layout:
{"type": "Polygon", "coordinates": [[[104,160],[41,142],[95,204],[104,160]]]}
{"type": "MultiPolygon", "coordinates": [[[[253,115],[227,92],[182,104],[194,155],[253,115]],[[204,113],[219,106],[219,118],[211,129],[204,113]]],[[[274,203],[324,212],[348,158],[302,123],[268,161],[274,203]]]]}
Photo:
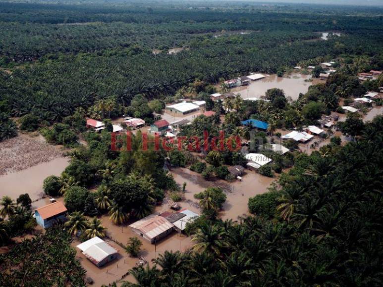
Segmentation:
{"type": "Polygon", "coordinates": [[[0,255],[1,284],[85,286],[85,270],[76,259],[76,252],[70,247],[70,242],[70,236],[62,227],[57,227],[16,244],[9,252],[0,255]]]}

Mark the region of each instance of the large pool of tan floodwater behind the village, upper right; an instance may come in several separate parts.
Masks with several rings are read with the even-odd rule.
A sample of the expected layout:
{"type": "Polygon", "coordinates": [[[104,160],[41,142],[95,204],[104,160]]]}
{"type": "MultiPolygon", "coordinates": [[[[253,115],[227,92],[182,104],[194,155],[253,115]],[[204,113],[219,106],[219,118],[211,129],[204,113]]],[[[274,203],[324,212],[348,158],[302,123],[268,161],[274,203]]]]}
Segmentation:
{"type": "Polygon", "coordinates": [[[311,80],[311,75],[291,74],[287,77],[266,75],[266,78],[262,80],[251,82],[249,86],[234,88],[231,92],[237,92],[243,98],[249,98],[265,96],[267,90],[278,88],[282,89],[286,96],[290,96],[295,100],[298,98],[299,93],[305,94],[311,85],[322,82],[319,79],[309,80],[311,80]]]}

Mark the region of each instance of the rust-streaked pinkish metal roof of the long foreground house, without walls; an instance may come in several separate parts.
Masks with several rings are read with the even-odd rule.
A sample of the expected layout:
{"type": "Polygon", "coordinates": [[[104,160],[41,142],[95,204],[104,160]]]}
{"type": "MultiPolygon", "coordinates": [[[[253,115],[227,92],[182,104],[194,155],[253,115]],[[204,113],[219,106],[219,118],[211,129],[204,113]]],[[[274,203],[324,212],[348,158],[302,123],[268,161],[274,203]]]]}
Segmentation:
{"type": "Polygon", "coordinates": [[[172,229],[173,225],[167,221],[165,218],[151,214],[135,223],[129,225],[130,228],[135,228],[140,230],[145,236],[150,239],[153,239],[160,234],[164,233],[166,230],[172,229]]]}

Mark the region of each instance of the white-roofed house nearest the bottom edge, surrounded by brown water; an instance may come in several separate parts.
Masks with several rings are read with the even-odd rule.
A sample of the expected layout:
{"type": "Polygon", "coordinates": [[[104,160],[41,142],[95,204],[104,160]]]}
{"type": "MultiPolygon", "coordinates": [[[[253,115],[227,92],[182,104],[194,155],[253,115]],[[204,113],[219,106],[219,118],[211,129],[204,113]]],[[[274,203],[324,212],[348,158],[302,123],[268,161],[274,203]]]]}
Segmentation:
{"type": "Polygon", "coordinates": [[[97,236],[77,245],[77,248],[98,267],[114,260],[118,254],[116,249],[97,236]]]}

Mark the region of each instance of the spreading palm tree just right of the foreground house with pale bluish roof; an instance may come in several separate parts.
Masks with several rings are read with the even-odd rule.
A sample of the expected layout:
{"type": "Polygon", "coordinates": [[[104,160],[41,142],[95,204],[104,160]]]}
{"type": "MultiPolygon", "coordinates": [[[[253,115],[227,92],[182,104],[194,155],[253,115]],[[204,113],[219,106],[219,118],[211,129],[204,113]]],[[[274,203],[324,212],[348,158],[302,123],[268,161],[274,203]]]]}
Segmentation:
{"type": "Polygon", "coordinates": [[[216,224],[204,224],[194,235],[192,241],[198,242],[193,246],[197,252],[210,252],[219,255],[220,249],[225,245],[222,238],[225,231],[222,227],[216,224]]]}

